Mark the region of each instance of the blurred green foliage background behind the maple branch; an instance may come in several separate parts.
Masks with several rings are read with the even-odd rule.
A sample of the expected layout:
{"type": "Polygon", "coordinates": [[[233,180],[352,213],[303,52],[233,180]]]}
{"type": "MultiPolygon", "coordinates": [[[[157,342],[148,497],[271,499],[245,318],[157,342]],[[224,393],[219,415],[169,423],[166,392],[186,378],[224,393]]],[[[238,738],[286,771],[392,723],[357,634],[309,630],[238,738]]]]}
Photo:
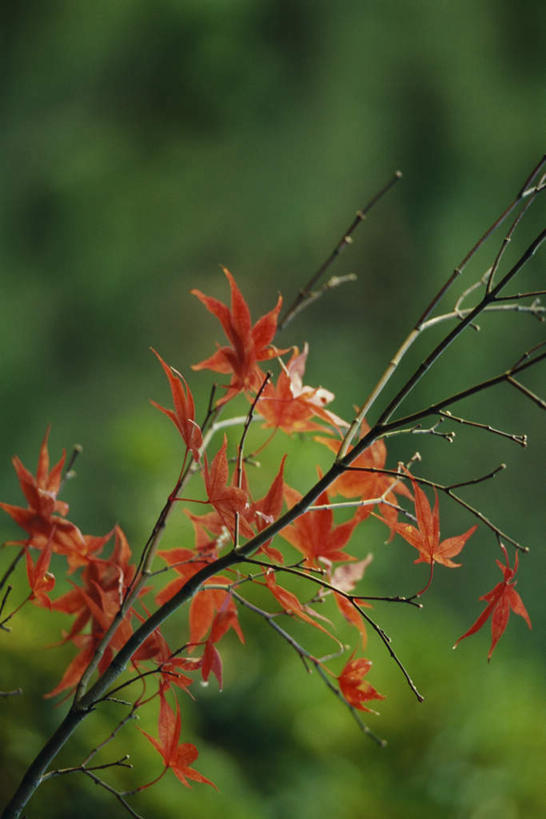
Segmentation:
{"type": "MultiPolygon", "coordinates": [[[[192,287],[225,299],[225,264],[254,317],[279,290],[291,300],[355,210],[401,168],[403,182],[335,268],[358,281],[279,337],[286,345],[310,342],[306,382],[333,390],[335,410],[349,416],[544,151],[546,6],[539,0],[30,1],[11,4],[3,18],[1,498],[20,502],[9,458],[17,453],[33,468],[51,423],[54,456],[76,441],[84,447],[78,479],[65,493],[72,519],[97,534],[119,522],[136,551],[180,455],[174,430],[148,403],[168,400],[148,347],[188,375],[222,338],[189,295],[192,287]]],[[[512,259],[543,213],[537,204],[512,259]]],[[[465,285],[490,264],[494,247],[480,253],[465,285]]],[[[543,269],[537,256],[518,288],[540,287],[543,269]]],[[[467,333],[445,357],[408,409],[499,372],[541,329],[516,315],[482,325],[480,336],[467,333]]],[[[539,373],[525,381],[538,388],[539,373]]],[[[192,376],[200,412],[210,383],[206,374],[192,376]]],[[[529,449],[458,430],[451,447],[396,439],[391,463],[418,447],[422,474],[446,482],[510,465],[468,497],[535,547],[518,586],[534,630],[512,618],[490,665],[489,626],[451,651],[481,610],[477,597],[500,579],[494,538],[483,529],[465,549],[462,569],[437,572],[422,612],[378,605],[378,620],[426,695],[418,705],[371,637],[371,679],[387,695],[381,716],[369,718],[389,740],[379,750],[286,645],[243,615],[248,645],[226,638],[224,691],[211,683],[195,703],[183,702],[183,739],[196,742],[196,767],[219,793],[186,791],[168,773],[135,800],[137,810],[225,819],[544,815],[539,410],[504,387],[458,409],[527,432],[529,449]]],[[[264,458],[262,487],[285,444],[279,435],[264,458]]],[[[290,481],[304,489],[324,453],[303,441],[288,448],[290,481]]],[[[444,502],[442,523],[449,535],[471,520],[444,502]]],[[[186,534],[175,522],[165,542],[184,545],[186,534]]],[[[0,536],[17,536],[7,517],[0,536]]],[[[384,546],[379,524],[357,538],[357,552],[375,552],[371,593],[409,592],[423,582],[412,550],[401,541],[384,546]]],[[[24,588],[17,579],[14,599],[24,588]]],[[[41,699],[72,653],[42,648],[67,625],[62,615],[52,619],[53,628],[38,609],[27,611],[11,634],[2,632],[0,687],[25,690],[0,702],[6,796],[61,716],[63,706],[41,699]]],[[[177,627],[169,626],[173,640],[177,627]]],[[[60,762],[85,756],[116,713],[97,713],[60,762]]],[[[150,709],[141,724],[155,734],[154,723],[150,709]]],[[[127,750],[136,770],[124,787],[159,772],[155,752],[132,726],[105,759],[127,750]]],[[[74,776],[44,785],[27,815],[84,819],[97,811],[125,815],[74,776]]]]}

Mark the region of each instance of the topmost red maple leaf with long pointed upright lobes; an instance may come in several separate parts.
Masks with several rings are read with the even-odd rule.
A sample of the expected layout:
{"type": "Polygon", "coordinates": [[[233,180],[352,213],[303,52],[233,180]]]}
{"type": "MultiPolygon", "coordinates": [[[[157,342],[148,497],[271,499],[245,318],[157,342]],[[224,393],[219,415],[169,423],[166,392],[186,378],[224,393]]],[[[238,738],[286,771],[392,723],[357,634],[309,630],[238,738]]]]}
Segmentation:
{"type": "Polygon", "coordinates": [[[248,305],[235,279],[227,268],[224,267],[223,270],[231,289],[231,310],[218,299],[205,296],[200,290],[191,291],[205,305],[209,313],[220,321],[231,344],[230,347],[220,347],[210,358],[193,365],[194,370],[206,369],[219,373],[232,373],[228,391],[218,402],[219,404],[225,404],[242,390],[258,390],[264,379],[258,367],[258,361],[267,361],[280,352],[286,352],[286,350],[279,351],[271,346],[277,331],[282,297],[279,296],[273,310],[262,316],[252,326],[248,305]]]}

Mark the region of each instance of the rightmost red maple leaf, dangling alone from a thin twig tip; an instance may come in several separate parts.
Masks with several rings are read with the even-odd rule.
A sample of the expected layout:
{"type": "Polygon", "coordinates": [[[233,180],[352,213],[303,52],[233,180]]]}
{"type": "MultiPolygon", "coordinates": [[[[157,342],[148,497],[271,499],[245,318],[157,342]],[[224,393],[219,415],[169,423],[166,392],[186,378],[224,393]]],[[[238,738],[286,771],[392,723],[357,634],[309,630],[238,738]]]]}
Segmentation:
{"type": "Polygon", "coordinates": [[[504,575],[503,580],[500,583],[491,589],[490,592],[484,594],[480,597],[480,600],[486,600],[487,606],[482,611],[478,619],[470,626],[468,631],[466,631],[462,637],[459,637],[453,648],[456,648],[461,640],[464,640],[465,637],[470,637],[471,634],[475,634],[477,631],[481,629],[481,627],[485,624],[485,622],[491,617],[491,647],[489,649],[489,654],[487,655],[488,661],[491,659],[491,655],[493,654],[494,648],[497,645],[499,639],[504,634],[504,630],[508,625],[508,620],[510,618],[510,611],[513,611],[514,614],[519,614],[520,617],[523,617],[529,628],[532,628],[531,620],[527,613],[527,609],[523,605],[523,600],[515,590],[514,586],[516,584],[515,576],[518,570],[518,553],[516,552],[516,556],[514,558],[514,568],[510,567],[510,560],[508,558],[508,552],[506,551],[505,546],[501,543],[500,547],[504,552],[504,558],[506,563],[503,564],[500,560],[495,561],[499,569],[504,575]]]}

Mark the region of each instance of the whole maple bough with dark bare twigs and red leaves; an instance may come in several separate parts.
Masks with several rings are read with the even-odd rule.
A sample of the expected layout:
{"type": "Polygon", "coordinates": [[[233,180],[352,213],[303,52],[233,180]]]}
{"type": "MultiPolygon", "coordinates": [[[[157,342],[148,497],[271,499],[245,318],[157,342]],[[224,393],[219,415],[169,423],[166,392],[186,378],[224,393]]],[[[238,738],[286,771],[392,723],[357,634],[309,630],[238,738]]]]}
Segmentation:
{"type": "MultiPolygon", "coordinates": [[[[519,355],[516,363],[498,375],[469,383],[464,389],[445,395],[407,415],[398,413],[417,382],[477,316],[495,310],[502,303],[504,310],[542,317],[543,308],[536,300],[529,303],[536,293],[507,297],[504,290],[538,249],[545,232],[535,238],[506,272],[501,274],[500,267],[505,246],[526,208],[546,187],[543,167],[544,161],[533,170],[511,206],[503,211],[456,267],[455,273],[432,299],[414,329],[390,358],[385,373],[369,398],[357,408],[351,421],[326,408],[334,400],[332,392],[322,386],[303,384],[308,344],[305,343],[300,352],[297,346],[280,349],[273,341],[281,325],[285,327],[298,312],[333,286],[330,282],[322,290],[313,290],[329,262],[348,244],[351,233],[365,213],[392,188],[400,178],[399,174],[372,198],[367,208],[358,212],[328,263],[322,265],[318,274],[300,290],[282,318],[282,299],[279,296],[275,306],[253,324],[247,302],[227,269],[224,272],[231,293],[229,308],[200,290],[193,290],[192,293],[204,307],[220,321],[229,341],[229,346],[219,347],[214,354],[193,365],[193,369],[208,369],[229,377],[229,381],[220,385],[220,395],[217,395],[215,388],[205,418],[198,423],[188,382],[181,372],[153,350],[167,377],[173,409],[155,401],[152,404],[178,430],[183,454],[175,485],[137,557],[119,525],[104,535],[84,534],[68,519],[68,505],[59,500],[58,495],[70,475],[70,465],[65,468],[66,455],[63,452],[59,461],[50,468],[49,429],[40,447],[36,475],[18,457],[13,459],[27,506],[0,504],[24,532],[22,539],[8,544],[16,546],[18,551],[1,579],[0,588],[6,587],[6,591],[1,603],[0,626],[7,630],[8,622],[15,625],[15,615],[21,616],[20,612],[27,602],[46,612],[61,612],[69,618],[62,642],[71,643],[75,653],[55,687],[44,692],[47,698],[59,694],[64,698],[70,697],[71,704],[57,730],[29,765],[4,810],[4,817],[20,816],[36,789],[49,777],[76,771],[91,776],[96,784],[113,793],[120,804],[135,816],[138,814],[129,799],[160,781],[169,769],[186,786],[191,783],[213,785],[192,767],[198,756],[196,747],[190,742],[180,742],[181,711],[177,694],[181,697],[192,696],[194,683],[198,680],[208,682],[215,678],[222,687],[220,644],[230,631],[237,635],[241,644],[245,643],[243,612],[253,614],[274,629],[308,668],[317,671],[317,675],[336,693],[365,733],[382,744],[383,741],[360,717],[360,712],[375,713],[365,703],[383,700],[387,696],[376,690],[373,679],[371,682],[368,680],[372,661],[363,655],[372,650],[368,646],[370,630],[383,643],[417,700],[422,701],[423,696],[402,664],[390,637],[376,619],[378,604],[395,603],[421,608],[424,594],[433,586],[435,564],[441,564],[446,569],[457,568],[460,564],[453,558],[460,555],[479,525],[484,539],[488,531],[494,539],[503,541],[501,548],[505,562],[497,561],[503,580],[481,598],[487,602],[485,610],[457,643],[477,632],[491,617],[490,659],[507,626],[510,611],[522,616],[531,626],[521,597],[514,589],[518,553],[526,552],[527,547],[522,546],[515,537],[501,532],[494,522],[455,491],[490,479],[499,471],[498,468],[477,478],[441,484],[416,474],[417,453],[407,464],[388,467],[387,441],[394,433],[416,430],[439,434],[438,424],[448,417],[453,418],[446,411],[447,407],[496,384],[508,384],[531,397],[535,403],[540,402],[519,381],[521,373],[544,360],[545,353],[541,345],[537,345],[530,351],[518,351],[523,354],[519,355]],[[463,293],[454,311],[435,313],[440,297],[462,273],[478,247],[518,208],[520,210],[486,276],[463,293]],[[462,307],[464,299],[476,291],[480,294],[476,303],[472,307],[462,307]],[[429,327],[449,322],[453,325],[451,329],[431,346],[423,362],[410,371],[394,396],[379,405],[375,410],[375,420],[370,421],[373,408],[383,397],[391,377],[414,341],[429,327]],[[271,372],[264,371],[264,362],[268,366],[278,367],[276,379],[271,372]],[[243,416],[223,418],[223,413],[237,396],[248,402],[248,411],[243,416]],[[425,418],[435,421],[429,430],[421,427],[421,421],[425,418]],[[317,467],[317,480],[302,491],[285,478],[285,454],[280,464],[274,467],[277,471],[270,479],[269,488],[263,497],[255,500],[252,466],[257,451],[245,453],[248,433],[255,421],[264,429],[264,440],[257,451],[263,451],[279,432],[283,435],[308,433],[310,446],[322,447],[323,454],[327,449],[329,455],[333,455],[329,468],[321,471],[317,467]],[[241,430],[236,441],[227,435],[230,427],[241,430]],[[185,489],[187,484],[192,487],[188,493],[185,489]],[[434,494],[432,508],[425,491],[430,492],[430,489],[434,494]],[[462,506],[468,516],[478,519],[478,523],[462,534],[450,534],[442,540],[440,493],[462,506]],[[337,498],[342,500],[335,500],[337,498]],[[195,504],[205,505],[207,510],[199,514],[195,504]],[[184,543],[159,551],[169,517],[180,508],[191,522],[193,545],[184,543]],[[387,525],[390,539],[399,536],[418,551],[415,563],[430,566],[428,581],[420,591],[410,595],[384,596],[366,593],[366,573],[372,555],[363,556],[356,533],[373,518],[387,525]],[[513,567],[504,542],[515,550],[513,567]],[[20,603],[5,614],[12,591],[7,581],[22,558],[26,562],[29,591],[25,592],[20,603]],[[58,597],[54,597],[53,559],[55,573],[65,572],[71,585],[69,591],[58,597]],[[157,568],[158,559],[164,564],[162,568],[157,568]],[[165,582],[164,577],[167,577],[165,582]],[[292,578],[298,584],[293,589],[289,587],[292,578]],[[317,603],[328,600],[333,605],[326,616],[319,612],[317,603]],[[185,641],[173,649],[161,629],[165,620],[177,611],[186,616],[185,628],[181,629],[185,641]],[[341,615],[342,623],[346,622],[356,629],[354,634],[358,647],[352,647],[349,659],[346,658],[347,647],[336,634],[337,615],[341,615]],[[296,622],[301,627],[313,627],[317,639],[324,640],[328,646],[324,653],[310,651],[294,636],[291,626],[295,626],[296,622]],[[119,699],[119,692],[123,692],[124,697],[131,696],[131,701],[119,699]],[[136,786],[131,792],[116,790],[97,773],[99,769],[102,771],[108,767],[126,765],[125,759],[96,767],[87,762],[66,770],[50,767],[78,725],[106,700],[125,707],[129,705],[129,716],[151,701],[159,703],[157,738],[150,733],[142,733],[161,757],[163,769],[155,779],[136,786]]],[[[462,418],[456,420],[462,424],[481,426],[490,433],[522,443],[521,436],[496,430],[490,425],[462,418]]],[[[447,437],[448,434],[444,435],[447,437]]],[[[373,678],[373,674],[371,676],[373,678]]],[[[121,718],[112,736],[128,720],[128,716],[121,718]]],[[[108,740],[100,747],[107,744],[108,740]]]]}

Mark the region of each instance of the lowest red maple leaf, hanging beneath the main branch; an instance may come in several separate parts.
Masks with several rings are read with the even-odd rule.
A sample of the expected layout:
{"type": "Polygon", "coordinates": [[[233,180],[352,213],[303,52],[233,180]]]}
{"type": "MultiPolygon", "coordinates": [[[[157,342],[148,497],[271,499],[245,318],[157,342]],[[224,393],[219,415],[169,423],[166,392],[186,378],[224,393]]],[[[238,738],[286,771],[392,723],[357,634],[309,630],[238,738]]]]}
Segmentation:
{"type": "Polygon", "coordinates": [[[175,714],[162,694],[160,697],[159,706],[159,739],[155,739],[155,737],[150,736],[150,734],[148,734],[146,731],[141,731],[141,733],[144,734],[146,739],[148,739],[154,748],[161,754],[165,769],[160,776],[157,777],[157,779],[154,779],[153,782],[149,782],[147,785],[141,785],[138,790],[144,790],[145,788],[149,788],[150,785],[153,785],[155,782],[158,782],[169,768],[187,788],[191,788],[188,779],[191,779],[193,782],[201,782],[205,785],[212,785],[213,788],[216,788],[214,782],[211,782],[210,779],[207,779],[205,776],[200,774],[199,771],[196,771],[194,768],[190,767],[190,765],[195,762],[199,756],[199,753],[195,745],[192,745],[192,743],[179,743],[180,728],[180,706],[178,703],[176,704],[175,714]]]}

